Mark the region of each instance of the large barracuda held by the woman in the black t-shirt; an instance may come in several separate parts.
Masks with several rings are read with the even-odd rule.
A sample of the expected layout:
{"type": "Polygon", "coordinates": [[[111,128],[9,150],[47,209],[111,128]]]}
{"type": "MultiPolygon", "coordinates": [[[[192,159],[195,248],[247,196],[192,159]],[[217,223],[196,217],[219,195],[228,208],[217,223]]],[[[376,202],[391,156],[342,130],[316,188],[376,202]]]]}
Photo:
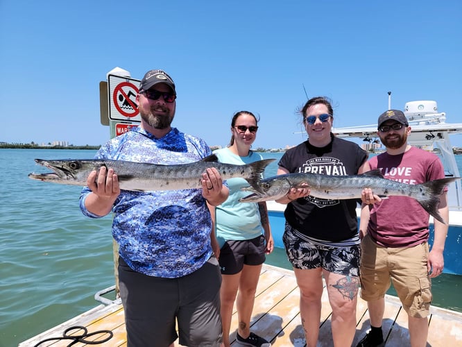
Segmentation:
{"type": "Polygon", "coordinates": [[[438,212],[439,196],[448,185],[459,177],[431,180],[420,185],[407,185],[395,180],[383,178],[380,169],[368,171],[361,175],[328,176],[319,174],[284,174],[268,177],[261,180],[259,189],[243,187],[244,191],[253,192],[239,201],[243,203],[257,203],[260,201],[277,200],[282,198],[289,190],[295,188],[311,189],[311,196],[330,200],[343,200],[347,198],[361,198],[364,188],[373,189],[373,193],[386,198],[388,196],[409,196],[416,199],[422,208],[431,216],[445,223],[438,212]]]}

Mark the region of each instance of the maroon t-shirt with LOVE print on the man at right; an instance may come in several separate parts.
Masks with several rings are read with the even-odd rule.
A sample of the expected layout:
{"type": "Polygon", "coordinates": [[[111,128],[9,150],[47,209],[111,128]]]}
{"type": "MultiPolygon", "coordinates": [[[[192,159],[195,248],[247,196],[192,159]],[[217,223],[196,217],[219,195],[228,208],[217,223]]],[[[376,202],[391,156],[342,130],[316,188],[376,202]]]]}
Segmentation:
{"type": "MultiPolygon", "coordinates": [[[[382,153],[369,164],[381,169],[384,178],[409,185],[445,177],[438,156],[416,147],[399,155],[382,153]]],[[[428,240],[429,214],[413,198],[390,196],[370,210],[368,234],[381,246],[416,246],[428,240]]]]}

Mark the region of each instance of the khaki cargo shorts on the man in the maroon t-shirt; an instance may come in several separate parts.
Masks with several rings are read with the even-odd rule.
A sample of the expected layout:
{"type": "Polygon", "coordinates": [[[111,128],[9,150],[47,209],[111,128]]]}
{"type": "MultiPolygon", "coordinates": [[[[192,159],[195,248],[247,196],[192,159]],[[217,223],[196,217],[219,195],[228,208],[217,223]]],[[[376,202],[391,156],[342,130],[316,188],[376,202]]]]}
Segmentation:
{"type": "Polygon", "coordinates": [[[427,242],[413,247],[382,247],[366,235],[361,242],[361,298],[383,298],[391,282],[410,316],[425,318],[432,300],[427,242]]]}

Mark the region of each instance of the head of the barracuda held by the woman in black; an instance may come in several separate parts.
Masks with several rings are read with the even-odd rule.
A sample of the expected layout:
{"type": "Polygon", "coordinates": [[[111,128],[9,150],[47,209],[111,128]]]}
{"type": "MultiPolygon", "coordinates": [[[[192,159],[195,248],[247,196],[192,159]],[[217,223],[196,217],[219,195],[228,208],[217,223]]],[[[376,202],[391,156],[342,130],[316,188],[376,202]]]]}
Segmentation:
{"type": "Polygon", "coordinates": [[[286,179],[285,175],[273,176],[265,178],[259,182],[259,191],[254,187],[242,187],[244,192],[252,192],[252,194],[241,198],[241,203],[257,203],[260,201],[277,200],[285,196],[291,189],[291,183],[286,179]]]}

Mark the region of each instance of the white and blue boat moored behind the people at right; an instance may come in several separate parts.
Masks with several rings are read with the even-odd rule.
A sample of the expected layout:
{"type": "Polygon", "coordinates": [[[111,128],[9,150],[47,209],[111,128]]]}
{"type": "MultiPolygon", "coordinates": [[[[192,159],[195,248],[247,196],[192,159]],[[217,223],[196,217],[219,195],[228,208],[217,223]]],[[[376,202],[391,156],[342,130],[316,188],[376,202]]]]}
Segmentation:
{"type": "MultiPolygon", "coordinates": [[[[390,94],[388,94],[388,109],[390,109],[390,94]]],[[[438,154],[445,168],[445,176],[461,177],[451,146],[450,135],[462,133],[462,123],[447,123],[446,114],[445,112],[438,112],[436,101],[409,101],[404,105],[403,112],[408,119],[409,126],[411,126],[408,143],[438,154]]],[[[377,124],[332,128],[332,133],[337,137],[346,139],[362,139],[363,142],[368,143],[363,146],[365,149],[375,150],[380,148],[380,141],[377,138],[377,124]]],[[[456,180],[450,184],[447,198],[450,208],[450,229],[447,232],[445,243],[445,267],[443,273],[462,275],[461,180],[456,180]]],[[[283,212],[285,205],[275,201],[268,201],[267,205],[275,246],[284,248],[282,232],[284,232],[285,220],[283,212]]],[[[359,216],[359,214],[358,208],[357,215],[359,216]]],[[[430,217],[430,245],[433,239],[433,217],[430,217]]]]}

